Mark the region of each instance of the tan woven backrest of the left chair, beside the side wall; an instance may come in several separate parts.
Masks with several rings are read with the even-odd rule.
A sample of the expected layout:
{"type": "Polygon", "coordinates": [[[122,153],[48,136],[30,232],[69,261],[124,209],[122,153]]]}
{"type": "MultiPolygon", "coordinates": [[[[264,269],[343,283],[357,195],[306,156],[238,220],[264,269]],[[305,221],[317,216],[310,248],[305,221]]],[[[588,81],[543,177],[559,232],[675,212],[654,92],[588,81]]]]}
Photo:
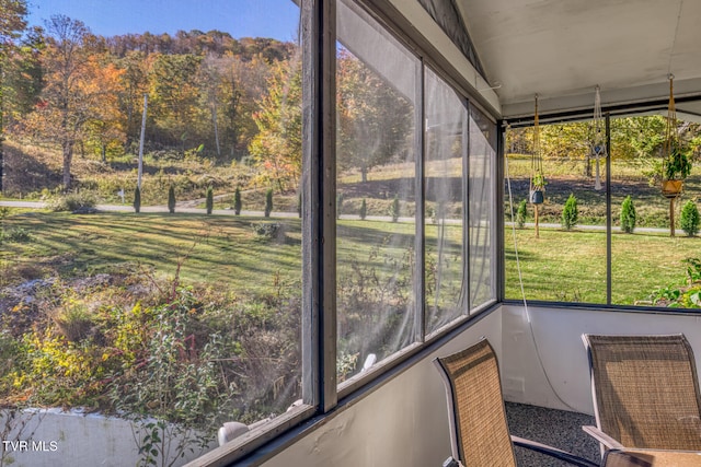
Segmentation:
{"type": "Polygon", "coordinates": [[[448,398],[452,456],[466,466],[516,466],[496,355],[486,339],[434,360],[448,398]]]}

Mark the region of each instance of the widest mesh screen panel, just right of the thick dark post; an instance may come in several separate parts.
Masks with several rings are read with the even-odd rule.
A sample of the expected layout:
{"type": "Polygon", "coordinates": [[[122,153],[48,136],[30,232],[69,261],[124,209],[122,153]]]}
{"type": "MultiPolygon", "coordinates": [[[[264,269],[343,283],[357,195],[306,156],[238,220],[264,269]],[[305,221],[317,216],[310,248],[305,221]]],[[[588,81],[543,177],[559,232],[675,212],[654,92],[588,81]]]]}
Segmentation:
{"type": "Polygon", "coordinates": [[[415,340],[420,61],[337,5],[336,316],[342,383],[415,340]]]}

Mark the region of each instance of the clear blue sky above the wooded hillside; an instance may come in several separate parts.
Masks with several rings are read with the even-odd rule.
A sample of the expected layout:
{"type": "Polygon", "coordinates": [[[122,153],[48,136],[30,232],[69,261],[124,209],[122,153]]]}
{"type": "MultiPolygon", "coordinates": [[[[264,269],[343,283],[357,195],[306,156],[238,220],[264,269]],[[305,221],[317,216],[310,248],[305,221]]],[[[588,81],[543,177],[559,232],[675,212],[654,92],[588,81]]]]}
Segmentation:
{"type": "Polygon", "coordinates": [[[291,0],[28,0],[31,25],[54,14],[82,21],[93,34],[174,34],[219,30],[240,37],[294,40],[299,8],[291,0]]]}

